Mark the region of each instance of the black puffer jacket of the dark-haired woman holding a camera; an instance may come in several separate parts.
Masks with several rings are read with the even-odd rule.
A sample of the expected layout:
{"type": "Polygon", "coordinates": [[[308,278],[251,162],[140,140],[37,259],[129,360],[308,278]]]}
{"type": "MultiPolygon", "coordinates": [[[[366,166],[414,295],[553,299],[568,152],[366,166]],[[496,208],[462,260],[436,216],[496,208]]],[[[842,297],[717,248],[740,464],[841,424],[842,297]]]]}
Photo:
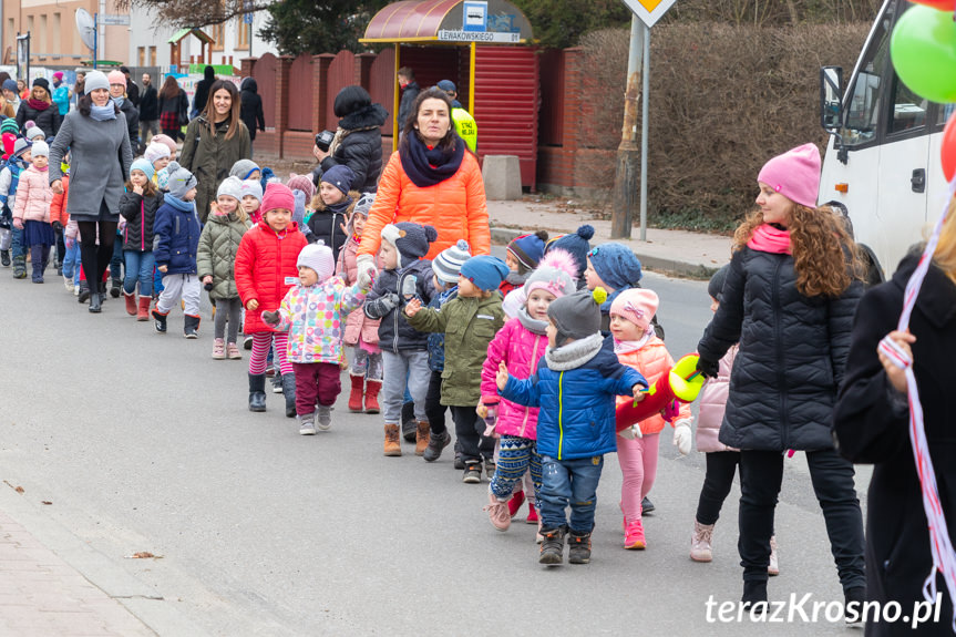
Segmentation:
{"type": "Polygon", "coordinates": [[[340,138],[332,154],[322,161],[322,172],[345,164],[356,174],[352,189],[374,193],[382,174],[382,124],[389,112],[381,104],[368,104],[339,120],[340,138]]]}

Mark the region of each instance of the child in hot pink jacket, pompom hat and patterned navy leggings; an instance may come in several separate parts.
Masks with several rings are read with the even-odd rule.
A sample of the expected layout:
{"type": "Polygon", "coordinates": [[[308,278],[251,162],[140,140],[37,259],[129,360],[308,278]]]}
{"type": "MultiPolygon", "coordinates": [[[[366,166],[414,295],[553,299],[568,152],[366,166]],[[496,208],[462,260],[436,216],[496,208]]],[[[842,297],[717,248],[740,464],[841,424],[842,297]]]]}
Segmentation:
{"type": "MultiPolygon", "coordinates": [[[[537,371],[547,349],[547,306],[575,291],[577,266],[564,250],[551,250],[525,282],[526,301],[517,317],[508,320],[489,343],[487,359],[482,366],[482,402],[480,414],[494,423],[501,436],[498,459],[489,485],[489,504],[484,510],[498,531],[511,525],[508,500],[525,472],[531,469],[534,499],[541,493],[541,456],[537,454],[537,408],[524,407],[498,395],[495,376],[504,361],[511,376],[523,380],[537,371]]],[[[528,497],[528,505],[535,502],[528,497]]],[[[538,530],[541,520],[538,518],[538,530]]]]}

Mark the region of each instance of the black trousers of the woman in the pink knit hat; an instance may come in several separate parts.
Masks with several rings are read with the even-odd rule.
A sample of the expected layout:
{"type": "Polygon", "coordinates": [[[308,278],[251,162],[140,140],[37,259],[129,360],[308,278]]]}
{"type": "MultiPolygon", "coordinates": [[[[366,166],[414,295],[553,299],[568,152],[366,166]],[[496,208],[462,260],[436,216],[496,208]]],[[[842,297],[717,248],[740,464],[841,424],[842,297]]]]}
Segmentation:
{"type": "MultiPolygon", "coordinates": [[[[863,515],[853,484],[853,465],[835,450],[808,451],[810,481],[826,523],[830,552],[843,590],[865,586],[863,515]]],[[[765,582],[773,513],[783,482],[779,451],[740,452],[740,565],[743,581],[765,582]]]]}

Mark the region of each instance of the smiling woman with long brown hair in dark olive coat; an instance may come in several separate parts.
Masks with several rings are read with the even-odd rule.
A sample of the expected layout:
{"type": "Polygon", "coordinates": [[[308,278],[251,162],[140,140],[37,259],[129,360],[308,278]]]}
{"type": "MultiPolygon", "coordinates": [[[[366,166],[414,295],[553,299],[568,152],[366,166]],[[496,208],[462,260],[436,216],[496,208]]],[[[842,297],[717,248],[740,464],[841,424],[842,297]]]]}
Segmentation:
{"type": "Polygon", "coordinates": [[[196,210],[205,224],[216,188],[233,164],[253,155],[249,130],[239,117],[239,91],[228,80],[216,80],[202,114],[186,127],[179,165],[196,176],[196,210]]]}

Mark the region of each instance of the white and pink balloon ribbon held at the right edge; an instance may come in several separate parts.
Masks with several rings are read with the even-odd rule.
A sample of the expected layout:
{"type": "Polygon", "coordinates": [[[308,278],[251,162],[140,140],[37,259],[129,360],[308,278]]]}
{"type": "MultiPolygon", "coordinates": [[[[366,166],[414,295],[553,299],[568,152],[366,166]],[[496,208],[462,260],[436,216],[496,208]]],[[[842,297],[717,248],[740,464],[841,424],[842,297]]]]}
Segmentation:
{"type": "MultiPolygon", "coordinates": [[[[956,195],[956,178],[949,183],[949,196],[946,199],[943,214],[936,222],[929,240],[926,242],[926,248],[923,250],[923,256],[919,258],[916,270],[906,282],[906,290],[903,297],[903,312],[900,315],[900,322],[897,325],[900,331],[906,331],[909,328],[909,317],[913,315],[916,297],[919,295],[923,279],[926,278],[926,273],[933,260],[933,254],[936,251],[936,245],[939,243],[943,223],[946,220],[949,203],[953,201],[954,195],[956,195]]],[[[905,373],[909,397],[909,441],[913,446],[913,460],[916,463],[916,472],[919,475],[923,510],[926,513],[926,522],[929,526],[929,548],[933,555],[933,569],[923,584],[923,598],[931,604],[936,599],[936,573],[939,572],[943,574],[946,589],[949,592],[949,598],[956,600],[956,551],[954,551],[953,543],[949,540],[949,530],[946,525],[946,517],[943,515],[943,505],[939,502],[939,490],[936,486],[936,471],[933,468],[933,459],[929,455],[929,445],[926,441],[923,404],[919,402],[919,390],[916,386],[916,374],[913,372],[912,362],[906,364],[905,373]]],[[[956,608],[953,610],[950,627],[956,633],[956,608]]]]}

